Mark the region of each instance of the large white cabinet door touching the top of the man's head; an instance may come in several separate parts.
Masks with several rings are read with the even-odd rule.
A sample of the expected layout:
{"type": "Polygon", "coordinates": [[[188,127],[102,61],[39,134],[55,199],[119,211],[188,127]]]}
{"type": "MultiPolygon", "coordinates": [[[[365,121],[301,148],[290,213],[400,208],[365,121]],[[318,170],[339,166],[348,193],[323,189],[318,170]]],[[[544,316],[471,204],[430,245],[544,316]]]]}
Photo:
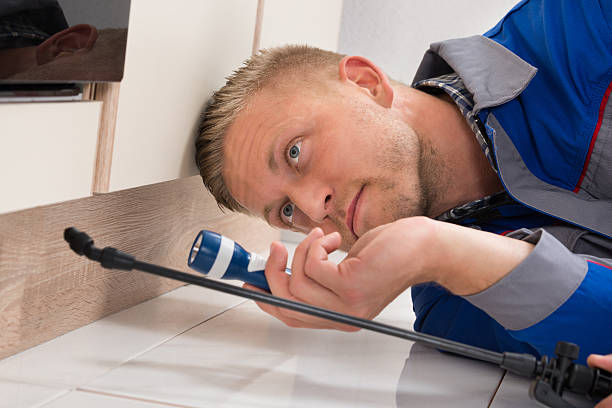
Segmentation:
{"type": "Polygon", "coordinates": [[[198,119],[251,54],[256,0],[132,0],[110,190],[197,174],[198,119]]]}

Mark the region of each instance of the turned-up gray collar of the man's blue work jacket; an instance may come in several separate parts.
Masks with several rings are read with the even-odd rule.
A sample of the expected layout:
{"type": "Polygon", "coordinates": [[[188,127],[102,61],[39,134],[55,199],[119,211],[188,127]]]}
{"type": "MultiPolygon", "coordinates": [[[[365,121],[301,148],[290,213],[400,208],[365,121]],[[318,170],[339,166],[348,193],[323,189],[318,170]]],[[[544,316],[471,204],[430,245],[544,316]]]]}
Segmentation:
{"type": "Polygon", "coordinates": [[[474,113],[516,98],[537,68],[482,35],[431,44],[412,84],[456,72],[474,96],[474,113]]]}

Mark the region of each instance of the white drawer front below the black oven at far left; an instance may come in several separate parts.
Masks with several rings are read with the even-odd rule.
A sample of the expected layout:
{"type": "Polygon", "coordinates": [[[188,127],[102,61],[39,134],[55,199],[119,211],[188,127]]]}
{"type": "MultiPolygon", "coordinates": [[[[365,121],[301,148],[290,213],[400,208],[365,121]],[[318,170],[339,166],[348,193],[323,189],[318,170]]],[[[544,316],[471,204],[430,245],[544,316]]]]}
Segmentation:
{"type": "Polygon", "coordinates": [[[0,213],[91,194],[101,106],[0,104],[0,213]]]}

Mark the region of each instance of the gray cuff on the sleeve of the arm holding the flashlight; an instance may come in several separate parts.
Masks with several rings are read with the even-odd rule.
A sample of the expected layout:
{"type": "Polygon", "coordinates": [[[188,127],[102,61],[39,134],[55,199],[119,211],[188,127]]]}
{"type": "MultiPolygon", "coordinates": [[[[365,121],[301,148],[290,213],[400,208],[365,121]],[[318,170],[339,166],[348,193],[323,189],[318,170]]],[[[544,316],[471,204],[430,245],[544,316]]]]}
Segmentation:
{"type": "Polygon", "coordinates": [[[535,244],[533,252],[503,279],[464,298],[510,330],[530,327],[557,310],[582,283],[587,259],[612,267],[612,240],[580,228],[521,229],[508,236],[535,244]]]}

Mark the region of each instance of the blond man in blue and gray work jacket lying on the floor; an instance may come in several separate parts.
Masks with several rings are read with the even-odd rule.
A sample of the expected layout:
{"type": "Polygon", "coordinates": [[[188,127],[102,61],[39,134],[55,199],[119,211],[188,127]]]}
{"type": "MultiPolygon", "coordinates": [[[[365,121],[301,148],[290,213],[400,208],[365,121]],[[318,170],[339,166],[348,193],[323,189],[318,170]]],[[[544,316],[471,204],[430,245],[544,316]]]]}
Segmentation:
{"type": "Polygon", "coordinates": [[[485,36],[433,44],[412,87],[362,57],[262,51],[207,109],[204,183],[220,206],[311,230],[290,277],[272,245],[275,295],[373,318],[410,287],[426,333],[610,353],[611,26],[610,2],[523,1],[485,36]]]}

